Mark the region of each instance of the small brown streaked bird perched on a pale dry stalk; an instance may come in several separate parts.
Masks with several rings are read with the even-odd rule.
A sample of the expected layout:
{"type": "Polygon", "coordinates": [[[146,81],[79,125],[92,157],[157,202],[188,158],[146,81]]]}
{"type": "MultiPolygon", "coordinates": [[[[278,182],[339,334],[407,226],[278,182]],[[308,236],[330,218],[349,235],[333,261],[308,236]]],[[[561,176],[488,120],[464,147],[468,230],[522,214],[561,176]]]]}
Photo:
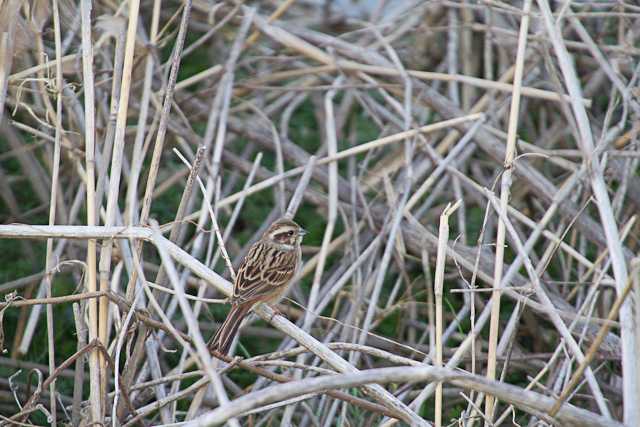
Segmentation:
{"type": "Polygon", "coordinates": [[[209,341],[209,350],[226,355],[242,320],[259,302],[277,303],[300,268],[300,243],[307,232],[288,218],[269,226],[242,260],[233,284],[231,311],[209,341]]]}

